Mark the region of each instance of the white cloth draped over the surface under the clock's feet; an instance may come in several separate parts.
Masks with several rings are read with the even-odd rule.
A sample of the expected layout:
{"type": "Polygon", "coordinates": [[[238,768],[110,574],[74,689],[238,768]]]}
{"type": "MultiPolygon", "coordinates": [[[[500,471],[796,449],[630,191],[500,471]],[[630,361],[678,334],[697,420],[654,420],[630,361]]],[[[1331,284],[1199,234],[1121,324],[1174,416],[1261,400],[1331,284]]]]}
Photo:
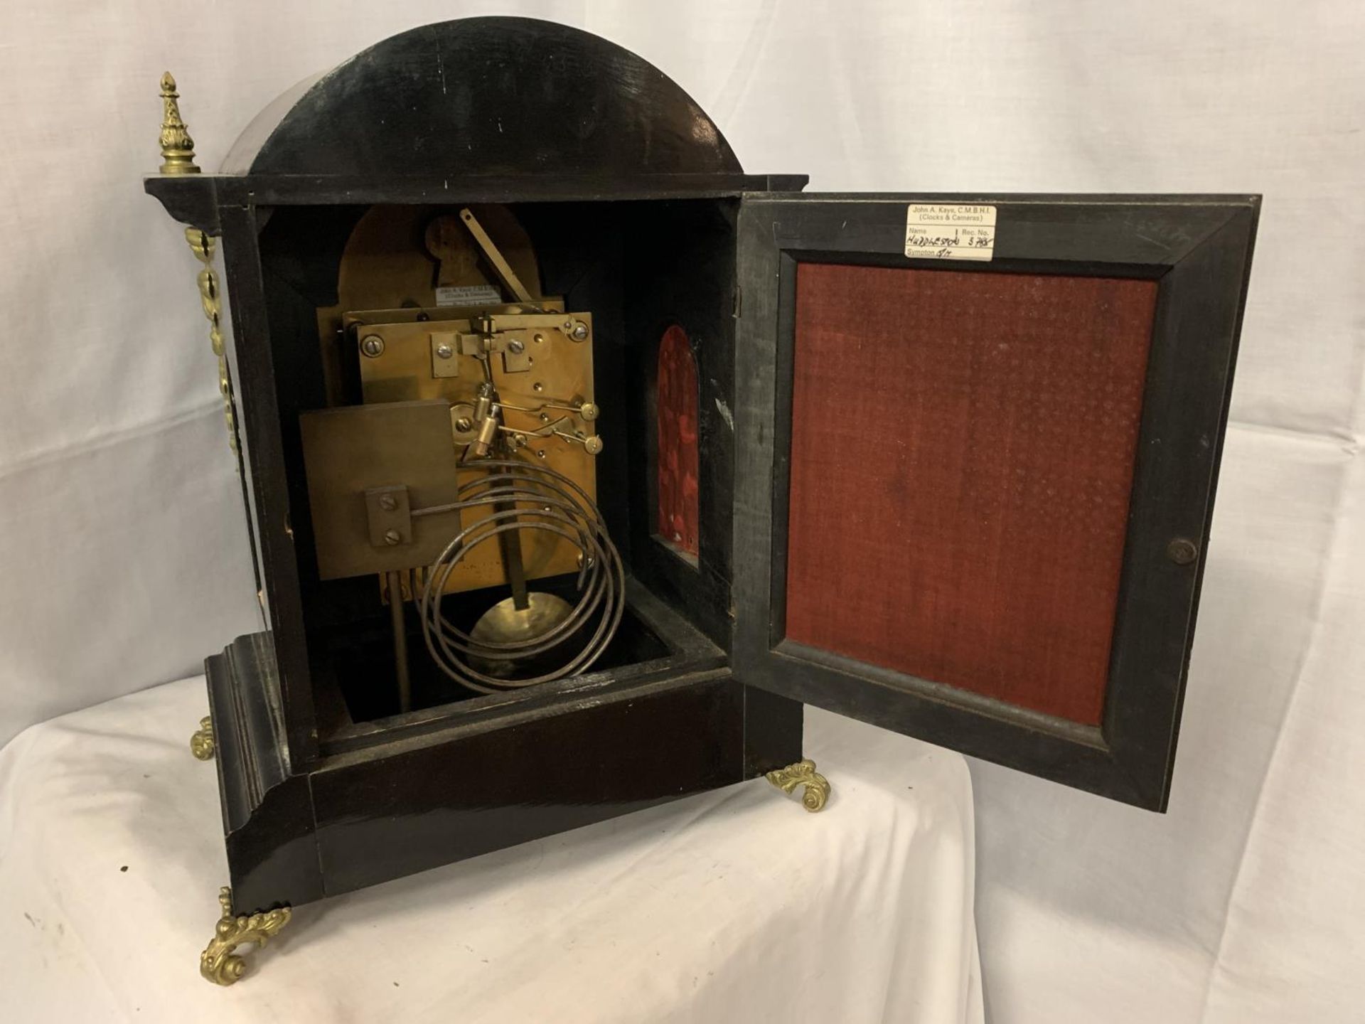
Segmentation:
{"type": "Polygon", "coordinates": [[[755,780],[308,904],[213,989],[202,710],[169,683],[0,751],[8,1024],[984,1023],[966,762],[827,711],[819,816],[755,780]]]}

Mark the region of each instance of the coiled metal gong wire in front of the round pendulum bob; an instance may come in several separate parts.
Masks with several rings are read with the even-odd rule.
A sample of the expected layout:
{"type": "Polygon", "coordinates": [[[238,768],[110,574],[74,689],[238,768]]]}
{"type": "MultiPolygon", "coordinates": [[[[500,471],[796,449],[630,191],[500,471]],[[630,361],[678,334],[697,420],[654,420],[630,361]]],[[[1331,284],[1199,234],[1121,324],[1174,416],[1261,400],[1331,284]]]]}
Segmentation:
{"type": "MultiPolygon", "coordinates": [[[[465,509],[485,509],[487,515],[452,537],[426,572],[418,610],[431,659],[456,683],[483,694],[587,670],[612,642],[625,610],[625,571],[602,513],[577,483],[547,467],[515,459],[482,459],[478,466],[487,472],[461,485],[456,501],[440,509],[459,509],[461,517],[465,509]],[[480,631],[485,623],[480,620],[464,632],[441,610],[446,583],[474,549],[511,531],[547,531],[577,547],[577,601],[568,605],[553,595],[531,593],[519,629],[480,631]],[[572,642],[581,639],[594,623],[586,643],[575,649],[572,642]],[[517,632],[521,635],[515,635],[517,632]],[[565,646],[569,653],[557,668],[524,679],[497,674],[501,669],[515,670],[519,662],[550,658],[556,649],[565,646]]],[[[485,618],[513,617],[512,601],[494,605],[485,618]]]]}

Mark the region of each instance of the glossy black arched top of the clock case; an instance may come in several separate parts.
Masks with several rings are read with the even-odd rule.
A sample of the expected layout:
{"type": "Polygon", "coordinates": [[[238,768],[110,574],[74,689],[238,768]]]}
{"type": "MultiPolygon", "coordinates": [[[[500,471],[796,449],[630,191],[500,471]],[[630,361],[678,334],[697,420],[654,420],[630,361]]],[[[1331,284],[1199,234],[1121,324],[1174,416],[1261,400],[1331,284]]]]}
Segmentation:
{"type": "Polygon", "coordinates": [[[325,177],[741,173],[715,123],[613,42],[531,18],[393,35],[265,108],[224,173],[325,177]]]}

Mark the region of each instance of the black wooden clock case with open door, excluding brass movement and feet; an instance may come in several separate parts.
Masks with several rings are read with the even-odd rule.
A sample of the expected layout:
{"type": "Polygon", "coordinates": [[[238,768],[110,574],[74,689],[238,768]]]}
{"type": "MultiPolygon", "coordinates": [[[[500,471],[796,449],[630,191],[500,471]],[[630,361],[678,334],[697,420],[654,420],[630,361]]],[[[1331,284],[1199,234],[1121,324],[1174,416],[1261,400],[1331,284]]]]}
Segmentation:
{"type": "Polygon", "coordinates": [[[263,618],[207,661],[238,912],[755,778],[801,758],[801,702],[1164,806],[1256,197],[820,197],[804,184],[745,175],[640,57],[520,18],[396,35],[262,112],[222,173],[147,179],[176,220],[221,239],[232,311],[263,618]],[[415,669],[403,711],[373,579],[318,576],[299,416],[328,404],[317,311],[337,302],[356,223],[375,208],[476,203],[524,227],[543,294],[592,314],[610,438],[597,493],[627,612],[584,674],[476,695],[415,669]],[[991,258],[954,258],[951,227],[913,248],[920,208],[991,210],[991,258]],[[1122,337],[1106,326],[1114,295],[1136,303],[1122,337]],[[1057,373],[999,384],[991,360],[1014,317],[1051,318],[1009,343],[1024,347],[1016,365],[1063,367],[1065,388],[1057,373]],[[659,528],[655,389],[672,328],[696,366],[695,553],[659,528]],[[1091,431],[1088,407],[1067,404],[1085,401],[1127,411],[1091,431]],[[1054,474],[1048,496],[1031,489],[1058,463],[1080,468],[1054,474]],[[925,494],[932,467],[961,486],[925,494]],[[1097,479],[1108,505],[1084,523],[1100,539],[1058,547],[1040,509],[1074,512],[1097,479]],[[996,527],[964,534],[981,515],[996,527]],[[865,560],[863,578],[826,558],[816,541],[830,535],[846,541],[838,558],[865,560]],[[981,561],[987,549],[996,561],[981,561]],[[1067,586],[1108,603],[1081,628],[1065,602],[1029,595],[1059,561],[1085,558],[1067,586]],[[976,649],[954,631],[981,608],[996,609],[980,627],[996,657],[964,661],[976,649]],[[898,625],[912,610],[923,635],[898,625]],[[1046,703],[1067,685],[1070,703],[1046,703]]]}

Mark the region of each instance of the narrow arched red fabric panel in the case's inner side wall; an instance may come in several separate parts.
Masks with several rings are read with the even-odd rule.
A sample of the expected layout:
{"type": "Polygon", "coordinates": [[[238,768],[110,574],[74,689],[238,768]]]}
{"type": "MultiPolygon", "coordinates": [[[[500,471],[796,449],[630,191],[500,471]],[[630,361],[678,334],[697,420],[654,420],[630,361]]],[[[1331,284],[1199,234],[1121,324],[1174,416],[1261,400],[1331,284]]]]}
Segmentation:
{"type": "Polygon", "coordinates": [[[659,537],[698,553],[696,359],[680,326],[659,341],[655,384],[659,437],[659,537]]]}

